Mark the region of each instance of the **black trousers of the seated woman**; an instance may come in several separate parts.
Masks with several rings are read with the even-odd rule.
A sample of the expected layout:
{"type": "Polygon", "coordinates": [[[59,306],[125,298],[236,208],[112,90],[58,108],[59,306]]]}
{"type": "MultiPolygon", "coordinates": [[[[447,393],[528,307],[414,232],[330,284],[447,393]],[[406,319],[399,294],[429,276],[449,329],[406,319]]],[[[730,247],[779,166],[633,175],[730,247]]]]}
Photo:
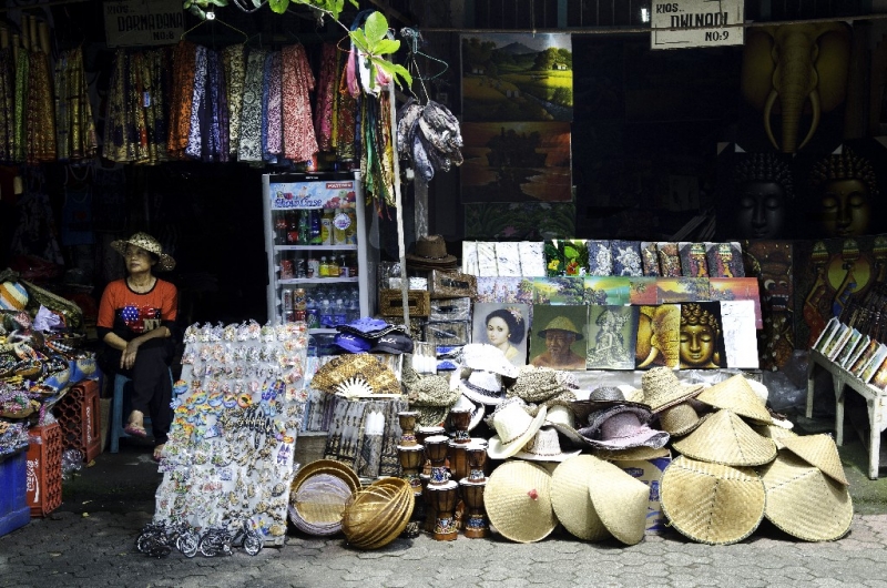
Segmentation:
{"type": "Polygon", "coordinates": [[[115,362],[115,372],[132,379],[130,399],[132,409],[151,417],[155,444],[166,443],[166,435],[173,420],[173,412],[170,408],[173,399],[173,383],[170,379],[170,365],[175,352],[173,341],[169,337],[152,338],[142,344],[135,354],[135,365],[132,369],[120,368],[121,352],[116,349],[109,352],[109,361],[115,362]]]}

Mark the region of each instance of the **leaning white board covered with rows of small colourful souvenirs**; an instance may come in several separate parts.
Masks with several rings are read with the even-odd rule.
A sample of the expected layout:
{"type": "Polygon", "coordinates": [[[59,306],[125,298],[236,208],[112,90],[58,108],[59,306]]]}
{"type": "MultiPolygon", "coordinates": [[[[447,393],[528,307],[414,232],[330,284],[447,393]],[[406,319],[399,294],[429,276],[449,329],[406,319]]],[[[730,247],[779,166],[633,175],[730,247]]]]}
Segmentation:
{"type": "Polygon", "coordinates": [[[306,338],[304,323],[187,327],[155,524],[283,544],[306,338]]]}

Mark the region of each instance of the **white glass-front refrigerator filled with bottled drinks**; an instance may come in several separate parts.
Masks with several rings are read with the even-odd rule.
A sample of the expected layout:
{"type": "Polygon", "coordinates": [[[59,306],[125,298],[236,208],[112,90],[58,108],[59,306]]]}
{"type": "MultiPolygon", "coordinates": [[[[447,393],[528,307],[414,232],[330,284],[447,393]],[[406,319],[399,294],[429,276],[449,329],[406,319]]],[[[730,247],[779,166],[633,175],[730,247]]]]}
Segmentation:
{"type": "Polygon", "coordinates": [[[264,174],[262,184],[268,320],[305,321],[325,339],[337,324],[369,316],[373,265],[359,173],[264,174]]]}

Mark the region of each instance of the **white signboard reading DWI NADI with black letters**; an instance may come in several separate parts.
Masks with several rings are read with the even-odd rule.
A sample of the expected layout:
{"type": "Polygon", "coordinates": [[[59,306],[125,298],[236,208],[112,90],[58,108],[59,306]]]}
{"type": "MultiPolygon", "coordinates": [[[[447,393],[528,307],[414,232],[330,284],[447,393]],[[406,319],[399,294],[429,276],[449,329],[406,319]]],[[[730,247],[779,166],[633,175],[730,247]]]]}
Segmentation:
{"type": "Polygon", "coordinates": [[[736,45],[744,42],[745,0],[653,0],[651,49],[736,45]]]}

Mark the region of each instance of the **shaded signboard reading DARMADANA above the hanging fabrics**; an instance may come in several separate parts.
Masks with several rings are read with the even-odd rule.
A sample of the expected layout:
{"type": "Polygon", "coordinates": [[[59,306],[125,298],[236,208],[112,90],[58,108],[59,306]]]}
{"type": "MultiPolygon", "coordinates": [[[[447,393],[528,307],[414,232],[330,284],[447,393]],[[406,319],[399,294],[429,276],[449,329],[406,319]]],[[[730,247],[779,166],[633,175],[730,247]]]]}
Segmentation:
{"type": "Polygon", "coordinates": [[[171,44],[185,31],[181,0],[108,0],[103,8],[108,47],[171,44]]]}

